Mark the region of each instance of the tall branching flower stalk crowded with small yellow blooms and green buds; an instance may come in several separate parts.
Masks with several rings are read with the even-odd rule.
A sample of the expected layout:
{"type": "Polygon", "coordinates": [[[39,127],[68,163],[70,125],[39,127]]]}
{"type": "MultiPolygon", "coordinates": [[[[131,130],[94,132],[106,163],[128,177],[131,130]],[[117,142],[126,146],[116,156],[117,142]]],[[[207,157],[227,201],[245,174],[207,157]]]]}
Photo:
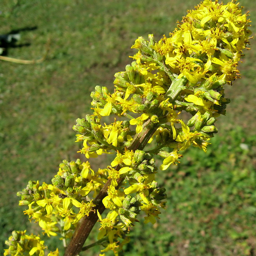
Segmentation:
{"type": "MultiPolygon", "coordinates": [[[[156,222],[166,189],[156,181],[154,156],[163,158],[164,171],[192,145],[207,150],[217,132],[216,118],[225,115],[230,102],[223,86],[239,78],[238,62],[250,39],[247,16],[236,1],[203,1],[170,37],[157,42],[150,34],[135,41],[132,48],[138,52],[125,71],[115,74],[114,93],[95,87],[94,113],[76,120],[76,141],[86,158],[114,153],[114,160],[98,170],[88,161],[63,160],[52,184],[29,181],[17,193],[19,204],[28,205],[24,213],[43,233],[70,240],[65,256],[99,244],[104,246],[100,255],[110,250],[118,255],[138,214],[144,214],[145,223],[156,222]],[[182,111],[192,117],[181,119],[182,111]],[[107,116],[115,118],[106,124],[107,116]],[[84,245],[97,221],[98,241],[84,245]]],[[[6,244],[4,255],[44,255],[46,248],[26,231],[13,231],[6,244]]],[[[57,249],[48,256],[58,254],[57,249]]]]}

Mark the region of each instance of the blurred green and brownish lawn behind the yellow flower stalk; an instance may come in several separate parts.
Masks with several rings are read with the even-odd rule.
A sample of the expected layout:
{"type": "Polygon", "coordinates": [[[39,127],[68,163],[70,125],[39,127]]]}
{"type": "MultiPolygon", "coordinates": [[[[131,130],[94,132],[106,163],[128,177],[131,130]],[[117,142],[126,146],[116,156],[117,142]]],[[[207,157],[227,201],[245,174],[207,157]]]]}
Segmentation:
{"type": "MultiPolygon", "coordinates": [[[[255,20],[254,1],[241,0],[255,20]]],[[[1,0],[0,34],[19,31],[7,56],[46,60],[1,63],[0,251],[13,229],[38,232],[18,207],[16,192],[28,180],[50,182],[62,159],[75,153],[72,126],[89,113],[90,91],[113,88],[113,75],[131,62],[138,36],[156,39],[198,4],[178,0],[1,0]]],[[[225,1],[226,3],[226,1],[225,1]]],[[[255,22],[252,23],[255,35],[255,22]]],[[[227,115],[207,154],[193,148],[181,164],[161,174],[168,207],[153,227],[132,228],[125,256],[256,255],[255,42],[245,51],[242,79],[227,88],[227,115]]],[[[92,160],[95,169],[104,159],[92,160]]],[[[92,238],[93,239],[93,238],[92,238]]],[[[50,248],[56,246],[56,240],[50,248]]],[[[94,251],[87,255],[98,255],[94,251]]]]}

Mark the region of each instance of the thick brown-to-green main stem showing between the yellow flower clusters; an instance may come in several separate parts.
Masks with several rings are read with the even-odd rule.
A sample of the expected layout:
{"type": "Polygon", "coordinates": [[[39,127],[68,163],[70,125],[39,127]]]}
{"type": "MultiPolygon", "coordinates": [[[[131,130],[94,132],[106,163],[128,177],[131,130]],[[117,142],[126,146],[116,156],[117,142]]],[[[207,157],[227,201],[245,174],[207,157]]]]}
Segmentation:
{"type": "MultiPolygon", "coordinates": [[[[182,77],[181,79],[175,79],[170,85],[165,95],[165,98],[170,98],[170,102],[173,102],[177,98],[177,96],[179,96],[180,92],[184,89],[186,83],[187,79],[184,77],[182,77]]],[[[146,146],[148,140],[153,136],[158,126],[158,124],[153,124],[151,120],[148,119],[143,125],[143,130],[140,133],[136,134],[136,136],[133,138],[130,146],[128,147],[128,150],[143,150],[143,148],[146,146]]],[[[117,166],[116,170],[119,169],[120,167],[117,166]]],[[[118,185],[116,186],[116,189],[120,187],[123,181],[124,178],[117,179],[118,185]]],[[[94,208],[95,212],[97,212],[98,210],[99,213],[102,214],[105,210],[105,206],[102,203],[102,199],[108,195],[108,187],[110,186],[110,184],[111,179],[109,179],[105,183],[104,187],[96,196],[95,200],[100,200],[101,202],[94,208]]],[[[89,216],[85,216],[81,219],[81,221],[76,227],[76,230],[73,234],[71,241],[69,242],[66,248],[64,256],[76,256],[82,250],[85,240],[89,236],[89,233],[91,232],[95,223],[98,220],[98,215],[95,212],[90,212],[89,216]]]]}

